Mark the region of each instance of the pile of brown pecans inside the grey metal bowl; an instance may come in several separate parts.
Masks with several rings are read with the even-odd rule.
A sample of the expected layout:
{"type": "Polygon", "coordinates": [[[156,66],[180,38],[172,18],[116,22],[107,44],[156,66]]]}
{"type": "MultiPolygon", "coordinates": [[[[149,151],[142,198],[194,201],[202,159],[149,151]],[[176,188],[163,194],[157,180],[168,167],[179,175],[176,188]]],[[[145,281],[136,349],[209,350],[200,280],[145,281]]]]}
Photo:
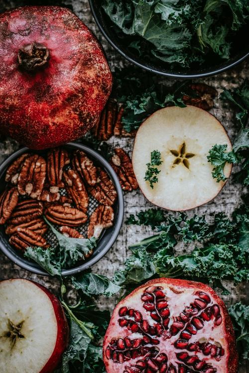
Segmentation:
{"type": "MultiPolygon", "coordinates": [[[[120,157],[117,167],[123,175],[122,165],[128,170],[131,162],[127,166],[122,152],[120,157]]],[[[134,186],[133,174],[126,179],[125,185],[134,186]]],[[[8,167],[5,181],[6,188],[0,194],[0,224],[5,225],[10,244],[18,250],[49,246],[44,238],[48,226],[43,216],[58,225],[62,234],[73,238],[84,238],[77,227],[86,223],[88,238],[99,238],[103,229],[113,225],[117,190],[106,171],[83,151],[69,154],[56,148],[45,156],[24,153],[8,167]],[[91,216],[90,196],[99,203],[91,216]]]]}

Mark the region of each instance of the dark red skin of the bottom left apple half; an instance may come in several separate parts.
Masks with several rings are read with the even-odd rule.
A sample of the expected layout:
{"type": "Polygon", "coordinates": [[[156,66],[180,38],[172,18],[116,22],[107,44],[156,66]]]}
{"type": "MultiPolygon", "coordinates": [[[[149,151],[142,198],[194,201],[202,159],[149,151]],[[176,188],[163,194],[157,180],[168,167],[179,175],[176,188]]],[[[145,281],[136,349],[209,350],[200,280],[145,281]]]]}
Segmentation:
{"type": "Polygon", "coordinates": [[[47,364],[40,371],[40,373],[52,373],[61,362],[62,354],[67,348],[69,341],[69,327],[63,307],[59,299],[54,294],[52,294],[46,287],[40,285],[35,281],[32,282],[34,282],[38,287],[40,287],[51,300],[57,320],[58,331],[54,351],[50,359],[47,361],[47,364]]]}

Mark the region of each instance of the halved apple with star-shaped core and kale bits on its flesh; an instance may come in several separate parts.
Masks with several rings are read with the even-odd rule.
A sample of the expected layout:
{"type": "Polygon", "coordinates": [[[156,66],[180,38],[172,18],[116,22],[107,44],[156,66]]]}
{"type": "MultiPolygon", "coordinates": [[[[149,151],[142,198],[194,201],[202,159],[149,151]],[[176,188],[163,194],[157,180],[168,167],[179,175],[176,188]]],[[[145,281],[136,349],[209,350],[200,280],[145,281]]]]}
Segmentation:
{"type": "MultiPolygon", "coordinates": [[[[137,183],[153,204],[184,211],[213,199],[224,186],[212,177],[213,166],[207,160],[215,144],[232,144],[222,124],[213,115],[195,106],[166,107],[150,115],[139,127],[132,153],[137,183]],[[163,163],[153,189],[144,180],[150,153],[158,150],[163,163]]],[[[228,178],[232,165],[226,164],[228,178]]]]}

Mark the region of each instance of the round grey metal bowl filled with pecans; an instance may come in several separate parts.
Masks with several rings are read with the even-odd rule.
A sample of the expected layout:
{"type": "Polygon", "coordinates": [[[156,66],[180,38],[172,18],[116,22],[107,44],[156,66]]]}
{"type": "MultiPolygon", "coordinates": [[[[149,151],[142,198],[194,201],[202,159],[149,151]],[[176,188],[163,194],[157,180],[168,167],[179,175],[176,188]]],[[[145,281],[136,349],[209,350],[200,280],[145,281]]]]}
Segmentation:
{"type": "Polygon", "coordinates": [[[123,217],[119,179],[88,146],[22,148],[0,165],[0,249],[25,270],[48,276],[23,253],[30,246],[53,248],[57,241],[51,225],[66,237],[97,240],[96,248],[62,275],[86,270],[112,247],[123,217]]]}

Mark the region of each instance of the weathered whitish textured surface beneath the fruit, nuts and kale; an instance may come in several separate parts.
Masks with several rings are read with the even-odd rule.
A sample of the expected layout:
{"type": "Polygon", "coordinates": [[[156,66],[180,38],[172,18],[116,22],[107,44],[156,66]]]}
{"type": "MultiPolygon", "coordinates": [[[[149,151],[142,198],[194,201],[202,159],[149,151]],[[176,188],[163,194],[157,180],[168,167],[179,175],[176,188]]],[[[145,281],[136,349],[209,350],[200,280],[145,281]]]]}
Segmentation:
{"type": "MultiPolygon", "coordinates": [[[[31,4],[35,1],[8,1],[0,0],[0,12],[15,7],[17,5],[31,4]]],[[[90,27],[91,30],[97,35],[100,42],[103,44],[104,49],[107,53],[107,57],[110,63],[112,70],[114,67],[124,67],[128,66],[128,62],[121,57],[106,41],[98,30],[97,25],[92,17],[90,7],[87,0],[64,0],[64,1],[44,1],[39,2],[44,4],[59,4],[69,6],[74,12],[90,27]]],[[[201,80],[206,84],[209,84],[215,87],[219,93],[223,91],[224,88],[233,88],[238,86],[243,80],[249,75],[249,61],[246,61],[239,65],[236,69],[230,70],[221,75],[215,77],[206,78],[201,80]]],[[[159,79],[159,78],[158,78],[159,79]]],[[[199,80],[200,81],[200,80],[199,80]]],[[[165,84],[170,85],[174,81],[172,79],[164,79],[165,84]]],[[[216,99],[215,106],[211,110],[211,113],[214,114],[224,125],[228,131],[229,137],[232,142],[238,131],[234,123],[234,113],[230,106],[222,102],[219,98],[216,99]]],[[[133,140],[132,139],[118,139],[112,137],[109,140],[109,143],[114,146],[122,146],[126,151],[131,153],[133,140]]],[[[2,162],[7,156],[9,156],[13,151],[19,148],[19,144],[9,138],[0,138],[0,162],[2,162]]],[[[236,171],[234,168],[233,173],[236,171]]],[[[240,184],[235,184],[233,178],[230,178],[226,186],[222,189],[221,193],[211,202],[200,206],[194,210],[191,210],[188,214],[193,215],[197,214],[206,214],[207,220],[212,222],[214,213],[223,211],[229,216],[238,207],[241,203],[241,195],[243,193],[242,186],[240,184]]],[[[144,196],[139,190],[133,191],[131,193],[124,194],[124,203],[125,203],[125,213],[124,221],[130,213],[135,213],[141,209],[146,209],[152,205],[146,201],[144,196]]],[[[129,244],[134,243],[142,238],[147,237],[150,234],[150,229],[147,227],[139,227],[133,225],[123,225],[123,228],[120,232],[120,235],[117,239],[117,242],[109,251],[109,253],[100,260],[96,265],[92,267],[94,273],[99,273],[112,277],[116,269],[120,269],[129,256],[128,246],[129,244]]],[[[179,251],[183,249],[180,246],[179,251]]],[[[0,253],[0,278],[26,278],[30,280],[36,280],[41,284],[48,286],[52,291],[58,291],[58,282],[54,279],[48,277],[41,277],[34,275],[30,272],[20,269],[18,266],[10,262],[2,253],[0,253]]],[[[237,301],[249,302],[249,294],[246,292],[246,284],[240,284],[236,287],[232,283],[227,283],[227,286],[231,290],[231,295],[222,296],[225,302],[229,305],[237,301]]],[[[115,298],[106,300],[105,298],[101,301],[101,308],[108,307],[110,310],[113,309],[115,304],[115,298]]],[[[246,372],[246,368],[241,369],[241,373],[246,372]]]]}

